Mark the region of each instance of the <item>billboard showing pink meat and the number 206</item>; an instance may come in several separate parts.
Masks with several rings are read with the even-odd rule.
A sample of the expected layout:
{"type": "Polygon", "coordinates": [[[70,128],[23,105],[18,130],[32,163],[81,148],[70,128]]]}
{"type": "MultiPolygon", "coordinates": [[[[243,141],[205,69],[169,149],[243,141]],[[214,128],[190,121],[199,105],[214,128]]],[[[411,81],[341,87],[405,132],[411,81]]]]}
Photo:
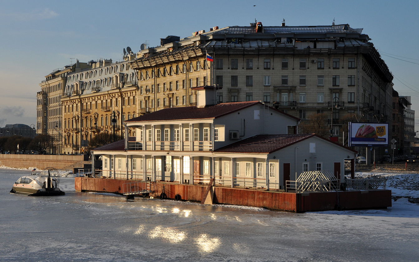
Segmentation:
{"type": "Polygon", "coordinates": [[[349,122],[349,146],[388,145],[388,123],[349,122]]]}

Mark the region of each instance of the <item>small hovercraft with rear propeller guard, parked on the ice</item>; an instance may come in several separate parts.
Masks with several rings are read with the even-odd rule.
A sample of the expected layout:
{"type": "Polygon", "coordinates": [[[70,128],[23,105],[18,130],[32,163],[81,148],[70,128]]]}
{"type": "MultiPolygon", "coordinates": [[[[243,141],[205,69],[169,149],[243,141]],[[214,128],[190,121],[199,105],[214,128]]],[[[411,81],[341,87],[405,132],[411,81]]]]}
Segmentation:
{"type": "Polygon", "coordinates": [[[34,169],[31,175],[20,177],[13,184],[10,193],[30,196],[65,195],[65,192],[61,191],[58,187],[59,179],[59,172],[53,167],[47,167],[39,174],[36,174],[34,169]]]}

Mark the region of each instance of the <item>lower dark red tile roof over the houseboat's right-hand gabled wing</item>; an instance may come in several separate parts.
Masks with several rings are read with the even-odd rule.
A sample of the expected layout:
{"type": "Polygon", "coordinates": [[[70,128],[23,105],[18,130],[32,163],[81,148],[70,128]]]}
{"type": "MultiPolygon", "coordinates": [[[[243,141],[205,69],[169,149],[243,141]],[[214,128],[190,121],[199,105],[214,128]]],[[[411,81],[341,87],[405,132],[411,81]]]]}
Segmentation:
{"type": "MultiPolygon", "coordinates": [[[[326,140],[330,143],[330,140],[325,139],[324,137],[318,136],[316,134],[301,134],[301,135],[255,135],[253,137],[248,137],[244,140],[235,142],[230,145],[226,145],[222,148],[214,150],[215,153],[273,153],[277,150],[285,148],[294,143],[303,141],[309,137],[319,137],[323,140],[326,140]]],[[[340,147],[352,150],[338,143],[334,143],[340,147]]]]}

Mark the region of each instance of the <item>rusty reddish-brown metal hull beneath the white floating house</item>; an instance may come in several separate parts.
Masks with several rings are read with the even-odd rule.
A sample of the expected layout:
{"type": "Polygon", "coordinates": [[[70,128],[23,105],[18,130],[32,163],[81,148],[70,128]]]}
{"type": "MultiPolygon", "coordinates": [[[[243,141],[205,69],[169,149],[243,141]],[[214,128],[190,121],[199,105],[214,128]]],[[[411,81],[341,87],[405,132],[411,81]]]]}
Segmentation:
{"type": "MultiPolygon", "coordinates": [[[[75,190],[122,195],[122,185],[127,182],[132,182],[132,180],[76,177],[75,190]]],[[[164,193],[168,199],[175,199],[176,195],[180,195],[182,200],[200,202],[206,188],[207,185],[155,182],[150,196],[160,197],[164,193]]],[[[381,209],[391,207],[391,190],[291,193],[215,187],[213,199],[215,204],[243,205],[291,212],[381,209]]]]}

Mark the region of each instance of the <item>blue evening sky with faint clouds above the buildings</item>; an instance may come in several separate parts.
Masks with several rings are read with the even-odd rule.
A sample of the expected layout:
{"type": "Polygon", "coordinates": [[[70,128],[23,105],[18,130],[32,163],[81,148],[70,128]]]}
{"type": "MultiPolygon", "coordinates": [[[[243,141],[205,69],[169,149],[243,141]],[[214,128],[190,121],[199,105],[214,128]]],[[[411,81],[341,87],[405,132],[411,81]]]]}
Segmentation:
{"type": "Polygon", "coordinates": [[[349,24],[363,28],[411,96],[419,130],[419,1],[7,1],[0,0],[0,127],[36,124],[39,83],[56,68],[140,50],[160,38],[184,38],[219,26],[349,24]]]}

